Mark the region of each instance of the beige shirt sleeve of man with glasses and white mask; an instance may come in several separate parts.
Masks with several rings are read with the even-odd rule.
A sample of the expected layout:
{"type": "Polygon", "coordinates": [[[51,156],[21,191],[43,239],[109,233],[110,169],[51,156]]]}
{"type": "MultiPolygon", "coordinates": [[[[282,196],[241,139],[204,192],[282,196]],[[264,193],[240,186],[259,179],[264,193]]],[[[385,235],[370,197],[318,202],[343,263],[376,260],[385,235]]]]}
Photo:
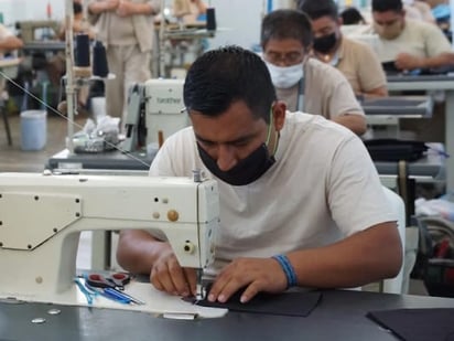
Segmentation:
{"type": "Polygon", "coordinates": [[[325,86],[332,87],[327,98],[331,119],[345,114],[364,115],[350,84],[337,68],[333,67],[333,79],[326,79],[325,86]]]}

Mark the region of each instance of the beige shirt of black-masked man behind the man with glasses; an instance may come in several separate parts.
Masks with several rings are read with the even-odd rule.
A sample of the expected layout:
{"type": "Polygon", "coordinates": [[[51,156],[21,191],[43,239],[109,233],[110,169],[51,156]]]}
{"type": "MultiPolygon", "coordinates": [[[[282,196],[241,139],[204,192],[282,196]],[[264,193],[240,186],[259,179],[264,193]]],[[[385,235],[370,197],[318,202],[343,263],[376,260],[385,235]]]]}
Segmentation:
{"type": "Polygon", "coordinates": [[[343,36],[337,57],[338,62],[334,66],[344,74],[355,94],[387,85],[380,61],[365,43],[343,36]]]}

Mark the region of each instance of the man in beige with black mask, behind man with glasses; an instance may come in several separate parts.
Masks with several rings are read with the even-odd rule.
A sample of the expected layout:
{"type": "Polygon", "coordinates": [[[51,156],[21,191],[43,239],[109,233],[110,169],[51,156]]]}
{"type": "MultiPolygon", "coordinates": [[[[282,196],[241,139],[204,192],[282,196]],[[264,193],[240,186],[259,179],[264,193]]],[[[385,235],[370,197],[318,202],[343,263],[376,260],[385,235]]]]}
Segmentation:
{"type": "Polygon", "coordinates": [[[388,95],[380,61],[368,45],[342,34],[342,19],[333,0],[306,0],[299,9],[311,18],[313,51],[320,61],[337,67],[357,96],[388,95]]]}

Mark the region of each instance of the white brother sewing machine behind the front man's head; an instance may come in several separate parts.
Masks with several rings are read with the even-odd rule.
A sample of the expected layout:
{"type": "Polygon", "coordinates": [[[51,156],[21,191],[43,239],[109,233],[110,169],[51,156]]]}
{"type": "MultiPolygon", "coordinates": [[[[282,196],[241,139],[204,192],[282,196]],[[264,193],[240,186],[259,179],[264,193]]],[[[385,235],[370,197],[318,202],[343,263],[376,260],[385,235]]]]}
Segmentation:
{"type": "Polygon", "coordinates": [[[130,88],[126,140],[122,150],[132,152],[162,140],[190,125],[184,110],[183,79],[149,79],[130,88]]]}

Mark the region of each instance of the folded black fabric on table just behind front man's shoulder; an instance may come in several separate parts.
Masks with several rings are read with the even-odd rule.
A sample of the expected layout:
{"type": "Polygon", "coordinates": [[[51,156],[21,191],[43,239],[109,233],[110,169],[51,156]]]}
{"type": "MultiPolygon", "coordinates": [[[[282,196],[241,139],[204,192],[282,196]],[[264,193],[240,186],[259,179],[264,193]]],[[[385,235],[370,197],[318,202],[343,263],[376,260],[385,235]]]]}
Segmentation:
{"type": "Polygon", "coordinates": [[[428,150],[422,141],[372,139],[364,141],[374,161],[417,161],[428,150]]]}

